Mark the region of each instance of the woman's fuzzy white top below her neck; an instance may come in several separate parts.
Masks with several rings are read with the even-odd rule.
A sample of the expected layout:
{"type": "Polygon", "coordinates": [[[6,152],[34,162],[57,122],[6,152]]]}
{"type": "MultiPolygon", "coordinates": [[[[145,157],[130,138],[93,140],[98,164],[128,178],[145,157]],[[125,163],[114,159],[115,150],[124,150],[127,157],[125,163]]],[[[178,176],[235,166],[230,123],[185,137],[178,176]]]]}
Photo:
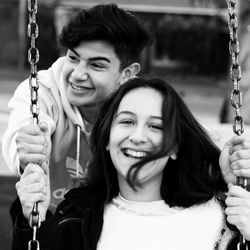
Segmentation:
{"type": "Polygon", "coordinates": [[[105,208],[97,250],[213,250],[224,225],[215,199],[183,209],[118,196],[105,208]]]}

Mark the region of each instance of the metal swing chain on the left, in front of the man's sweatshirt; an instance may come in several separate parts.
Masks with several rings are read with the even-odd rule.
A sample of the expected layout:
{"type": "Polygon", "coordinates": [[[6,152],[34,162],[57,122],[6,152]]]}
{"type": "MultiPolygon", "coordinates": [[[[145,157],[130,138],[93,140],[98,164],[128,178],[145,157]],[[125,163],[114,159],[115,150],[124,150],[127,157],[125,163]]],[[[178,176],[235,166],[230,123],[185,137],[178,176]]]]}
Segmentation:
{"type": "MultiPolygon", "coordinates": [[[[29,76],[29,86],[30,86],[30,112],[31,112],[31,123],[38,124],[38,115],[39,115],[39,103],[38,103],[38,88],[39,80],[37,74],[37,63],[39,61],[39,51],[36,48],[36,38],[38,37],[38,25],[36,23],[36,14],[37,14],[37,0],[28,0],[28,11],[29,11],[29,23],[27,34],[30,38],[30,48],[28,50],[28,61],[30,63],[30,76],[29,76]]],[[[40,227],[41,220],[38,211],[38,203],[34,204],[33,210],[30,213],[29,224],[33,229],[32,240],[28,243],[28,249],[39,250],[39,242],[36,239],[37,229],[40,227]]]]}

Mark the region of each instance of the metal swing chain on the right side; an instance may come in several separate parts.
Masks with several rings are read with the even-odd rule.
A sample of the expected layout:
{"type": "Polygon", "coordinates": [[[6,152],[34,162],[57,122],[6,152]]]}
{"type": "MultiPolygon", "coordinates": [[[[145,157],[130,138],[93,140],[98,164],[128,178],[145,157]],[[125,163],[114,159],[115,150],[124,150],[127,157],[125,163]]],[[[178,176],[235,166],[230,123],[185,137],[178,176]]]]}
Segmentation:
{"type": "MultiPolygon", "coordinates": [[[[233,131],[240,136],[244,132],[244,120],[240,114],[242,106],[242,92],[240,90],[241,67],[239,65],[239,40],[238,40],[238,20],[236,15],[236,0],[227,0],[228,6],[228,28],[230,33],[229,53],[231,54],[232,65],[230,68],[231,81],[233,82],[233,90],[231,91],[231,105],[235,109],[233,121],[233,131]]],[[[246,189],[247,179],[243,177],[237,178],[237,184],[246,189]]],[[[247,243],[242,235],[237,245],[237,250],[248,250],[247,243]]]]}

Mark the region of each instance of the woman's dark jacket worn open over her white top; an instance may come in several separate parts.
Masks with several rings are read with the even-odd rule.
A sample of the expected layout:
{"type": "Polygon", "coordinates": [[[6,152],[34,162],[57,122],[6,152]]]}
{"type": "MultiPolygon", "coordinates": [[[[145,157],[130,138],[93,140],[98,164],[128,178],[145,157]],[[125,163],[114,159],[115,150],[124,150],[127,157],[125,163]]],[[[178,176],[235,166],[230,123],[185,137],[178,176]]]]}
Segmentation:
{"type": "MultiPolygon", "coordinates": [[[[86,187],[70,190],[55,214],[48,212],[46,220],[41,223],[37,231],[40,249],[96,250],[103,226],[103,201],[104,195],[100,190],[86,187]]],[[[238,238],[232,239],[226,249],[237,249],[238,238]]],[[[12,249],[27,250],[31,239],[32,230],[22,213],[19,213],[14,225],[12,249]]]]}

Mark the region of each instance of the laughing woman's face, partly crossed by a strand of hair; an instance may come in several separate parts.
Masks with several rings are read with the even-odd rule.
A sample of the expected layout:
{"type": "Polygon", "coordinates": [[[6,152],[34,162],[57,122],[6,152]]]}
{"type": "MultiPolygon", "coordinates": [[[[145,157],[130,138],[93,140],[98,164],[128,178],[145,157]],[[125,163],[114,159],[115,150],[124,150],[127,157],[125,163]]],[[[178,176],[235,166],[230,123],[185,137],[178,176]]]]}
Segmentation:
{"type": "MultiPolygon", "coordinates": [[[[159,151],[163,138],[162,103],[161,93],[152,88],[137,88],[123,97],[113,118],[107,147],[120,184],[126,181],[133,164],[159,151]]],[[[147,163],[137,180],[143,185],[159,185],[168,158],[147,163]]]]}

